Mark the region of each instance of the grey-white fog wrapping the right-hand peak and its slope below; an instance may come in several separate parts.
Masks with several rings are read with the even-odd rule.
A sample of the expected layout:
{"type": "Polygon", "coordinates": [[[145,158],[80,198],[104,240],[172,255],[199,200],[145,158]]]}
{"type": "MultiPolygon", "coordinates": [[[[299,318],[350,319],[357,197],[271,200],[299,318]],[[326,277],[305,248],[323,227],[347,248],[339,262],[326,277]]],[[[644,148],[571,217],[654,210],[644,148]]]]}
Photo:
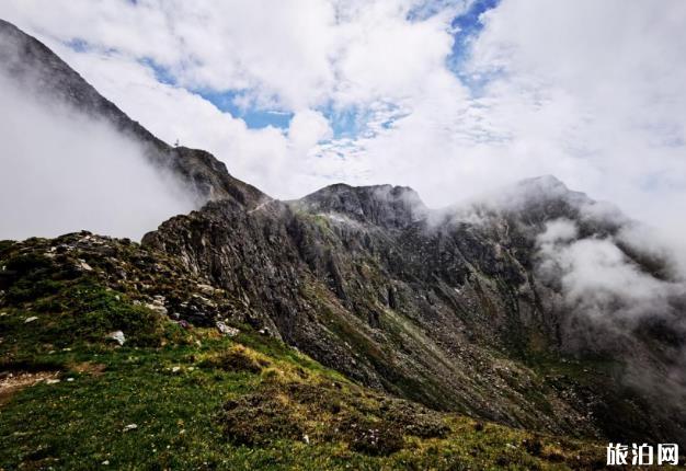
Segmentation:
{"type": "Polygon", "coordinates": [[[656,407],[682,407],[684,244],[592,196],[542,176],[490,189],[434,219],[503,234],[514,223],[534,244],[535,279],[547,291],[546,310],[559,315],[562,351],[609,354],[625,384],[659,399],[656,407]]]}

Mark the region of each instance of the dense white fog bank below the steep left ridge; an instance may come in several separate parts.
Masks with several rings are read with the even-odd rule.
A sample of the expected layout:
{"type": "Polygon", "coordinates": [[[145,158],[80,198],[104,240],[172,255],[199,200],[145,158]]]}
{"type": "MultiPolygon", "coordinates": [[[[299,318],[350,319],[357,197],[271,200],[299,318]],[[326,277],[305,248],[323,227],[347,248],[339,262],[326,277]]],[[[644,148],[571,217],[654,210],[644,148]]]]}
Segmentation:
{"type": "Polygon", "coordinates": [[[90,230],[135,240],[194,196],[111,125],[0,72],[0,239],[90,230]]]}

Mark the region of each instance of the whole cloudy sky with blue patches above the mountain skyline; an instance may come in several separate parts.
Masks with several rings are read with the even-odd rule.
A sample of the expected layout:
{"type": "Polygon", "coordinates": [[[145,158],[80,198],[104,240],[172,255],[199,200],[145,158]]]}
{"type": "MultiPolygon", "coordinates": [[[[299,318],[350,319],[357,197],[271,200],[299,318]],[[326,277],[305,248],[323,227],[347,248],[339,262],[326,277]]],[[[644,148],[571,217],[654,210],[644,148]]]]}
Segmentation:
{"type": "Polygon", "coordinates": [[[683,233],[686,2],[3,0],[104,96],[271,196],[441,207],[552,174],[683,233]]]}

